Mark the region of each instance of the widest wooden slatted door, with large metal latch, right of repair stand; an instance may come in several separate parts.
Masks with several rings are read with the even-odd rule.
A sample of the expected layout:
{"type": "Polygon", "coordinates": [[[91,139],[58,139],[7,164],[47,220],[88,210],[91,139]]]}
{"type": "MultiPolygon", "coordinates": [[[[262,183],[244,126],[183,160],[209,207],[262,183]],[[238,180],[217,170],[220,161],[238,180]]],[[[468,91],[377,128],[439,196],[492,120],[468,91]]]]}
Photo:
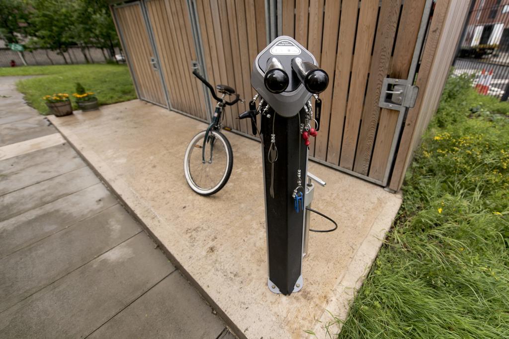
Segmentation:
{"type": "Polygon", "coordinates": [[[331,79],[320,95],[321,128],[309,152],[314,159],[387,184],[400,111],[379,107],[382,82],[407,79],[426,3],[282,2],[282,34],[312,52],[331,79]]]}

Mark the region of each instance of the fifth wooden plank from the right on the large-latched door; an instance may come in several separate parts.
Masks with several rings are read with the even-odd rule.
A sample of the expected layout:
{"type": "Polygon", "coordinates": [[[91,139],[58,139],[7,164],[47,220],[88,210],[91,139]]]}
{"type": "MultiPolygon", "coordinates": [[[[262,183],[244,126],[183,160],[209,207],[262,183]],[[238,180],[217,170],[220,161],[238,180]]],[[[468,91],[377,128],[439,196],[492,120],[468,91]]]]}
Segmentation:
{"type": "MultiPolygon", "coordinates": [[[[332,93],[334,88],[334,73],[336,65],[336,51],[338,42],[338,32],[340,28],[341,3],[338,1],[328,1],[325,3],[325,18],[323,20],[323,36],[320,36],[322,42],[322,54],[320,67],[329,75],[329,86],[320,95],[322,100],[322,115],[320,121],[320,131],[314,140],[315,147],[309,145],[310,155],[320,160],[326,160],[327,140],[329,137],[329,122],[332,107],[332,93]],[[313,150],[313,151],[312,151],[313,150]]],[[[354,20],[355,25],[355,20],[354,20]]],[[[343,29],[343,26],[342,26],[343,29]]],[[[355,31],[355,26],[354,26],[355,31]]],[[[350,71],[348,72],[350,73],[350,71]]],[[[336,74],[337,76],[337,74],[336,74]]]]}

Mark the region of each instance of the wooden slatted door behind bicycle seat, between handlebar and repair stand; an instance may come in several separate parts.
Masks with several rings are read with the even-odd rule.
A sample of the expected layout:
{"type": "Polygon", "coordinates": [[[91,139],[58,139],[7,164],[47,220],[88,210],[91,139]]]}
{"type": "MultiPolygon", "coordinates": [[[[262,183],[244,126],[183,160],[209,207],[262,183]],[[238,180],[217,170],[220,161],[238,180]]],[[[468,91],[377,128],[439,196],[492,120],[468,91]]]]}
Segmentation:
{"type": "Polygon", "coordinates": [[[232,86],[246,99],[225,109],[224,125],[251,135],[248,121],[237,117],[248,109],[254,95],[250,81],[253,60],[267,46],[265,0],[193,1],[209,82],[232,86]]]}

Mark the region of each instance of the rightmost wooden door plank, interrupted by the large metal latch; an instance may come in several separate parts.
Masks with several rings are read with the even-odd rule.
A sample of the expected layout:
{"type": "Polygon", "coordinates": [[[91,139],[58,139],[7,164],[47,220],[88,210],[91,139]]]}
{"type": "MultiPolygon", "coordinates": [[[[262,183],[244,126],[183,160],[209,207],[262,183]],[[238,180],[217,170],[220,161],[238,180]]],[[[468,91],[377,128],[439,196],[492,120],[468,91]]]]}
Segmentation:
{"type": "MultiPolygon", "coordinates": [[[[401,13],[398,37],[394,46],[393,62],[391,64],[391,78],[406,79],[412,63],[413,51],[417,42],[420,20],[422,17],[426,0],[406,2],[401,13]]],[[[369,176],[382,180],[384,178],[392,137],[398,122],[398,111],[383,108],[380,112],[378,133],[373,148],[371,168],[369,176]]]]}

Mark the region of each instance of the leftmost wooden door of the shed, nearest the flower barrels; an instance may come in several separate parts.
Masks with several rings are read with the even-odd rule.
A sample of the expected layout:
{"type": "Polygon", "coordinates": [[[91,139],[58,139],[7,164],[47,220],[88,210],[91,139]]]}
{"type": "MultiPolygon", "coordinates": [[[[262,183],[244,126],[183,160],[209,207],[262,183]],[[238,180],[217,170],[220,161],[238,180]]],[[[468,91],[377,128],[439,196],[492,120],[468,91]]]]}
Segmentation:
{"type": "Polygon", "coordinates": [[[114,7],[117,29],[138,98],[167,107],[143,8],[139,2],[114,7]]]}

